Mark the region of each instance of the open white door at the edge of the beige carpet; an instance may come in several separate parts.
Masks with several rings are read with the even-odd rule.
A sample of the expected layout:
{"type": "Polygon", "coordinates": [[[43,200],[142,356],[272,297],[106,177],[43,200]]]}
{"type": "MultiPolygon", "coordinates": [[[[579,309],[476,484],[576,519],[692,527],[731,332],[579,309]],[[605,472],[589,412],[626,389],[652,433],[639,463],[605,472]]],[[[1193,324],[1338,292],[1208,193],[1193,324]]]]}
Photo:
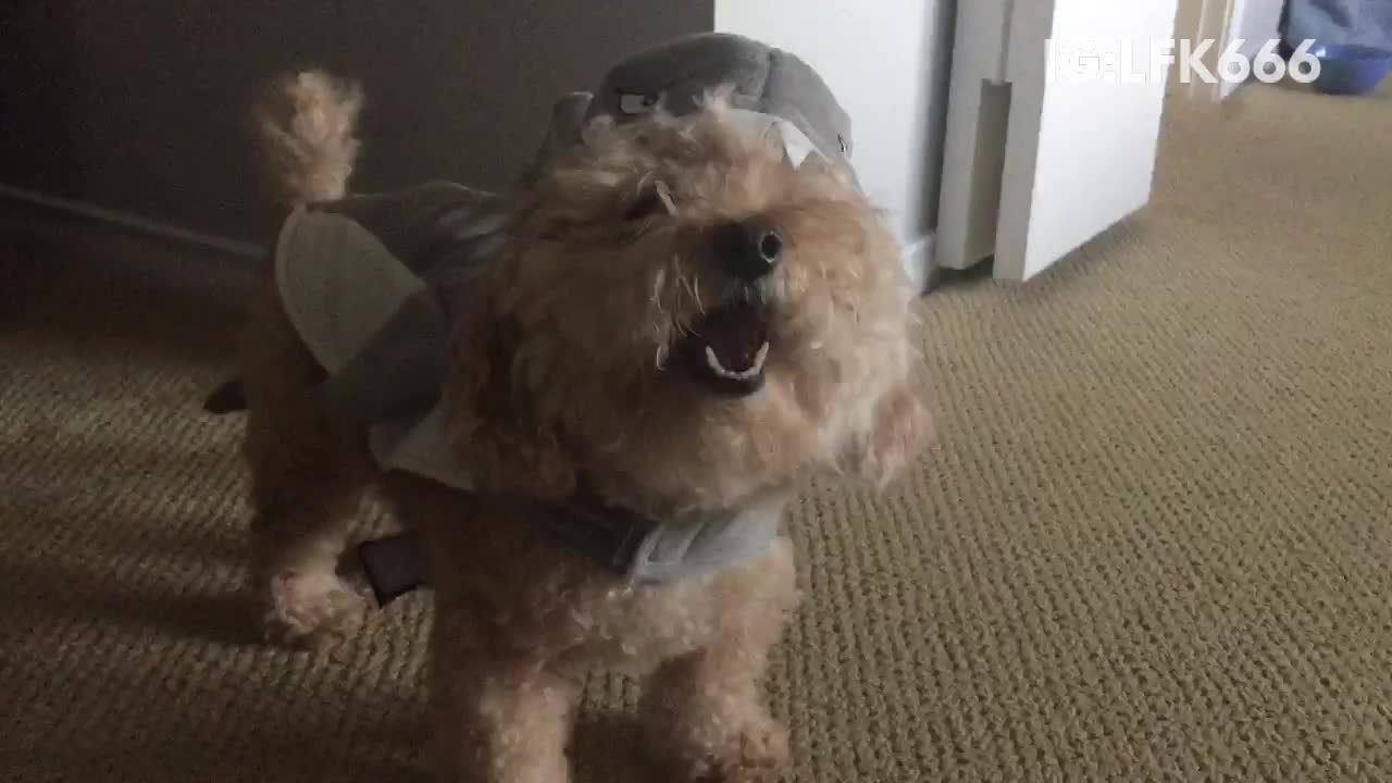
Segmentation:
{"type": "Polygon", "coordinates": [[[1027,280],[1150,201],[1176,0],[958,3],[935,265],[1027,280]],[[1126,63],[1126,54],[1130,61],[1126,63]]]}

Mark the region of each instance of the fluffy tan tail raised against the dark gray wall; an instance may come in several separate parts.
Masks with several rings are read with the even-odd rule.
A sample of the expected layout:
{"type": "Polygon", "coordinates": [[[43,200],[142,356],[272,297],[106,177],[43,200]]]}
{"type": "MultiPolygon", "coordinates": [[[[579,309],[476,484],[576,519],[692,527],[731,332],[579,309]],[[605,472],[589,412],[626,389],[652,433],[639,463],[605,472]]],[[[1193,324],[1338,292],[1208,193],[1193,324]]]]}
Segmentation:
{"type": "Polygon", "coordinates": [[[278,79],[253,110],[269,183],[278,202],[342,198],[361,146],[362,89],[324,71],[278,79]]]}

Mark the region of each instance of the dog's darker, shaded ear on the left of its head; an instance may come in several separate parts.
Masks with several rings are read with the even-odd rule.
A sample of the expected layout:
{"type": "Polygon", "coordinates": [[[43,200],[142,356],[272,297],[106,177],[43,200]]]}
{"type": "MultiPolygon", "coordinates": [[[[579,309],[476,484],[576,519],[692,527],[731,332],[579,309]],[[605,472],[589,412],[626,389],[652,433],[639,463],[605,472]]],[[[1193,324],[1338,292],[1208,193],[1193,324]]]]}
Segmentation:
{"type": "Polygon", "coordinates": [[[541,421],[532,404],[518,361],[518,336],[487,308],[476,309],[455,329],[447,389],[455,454],[480,492],[569,496],[576,483],[575,463],[558,425],[541,421]]]}

